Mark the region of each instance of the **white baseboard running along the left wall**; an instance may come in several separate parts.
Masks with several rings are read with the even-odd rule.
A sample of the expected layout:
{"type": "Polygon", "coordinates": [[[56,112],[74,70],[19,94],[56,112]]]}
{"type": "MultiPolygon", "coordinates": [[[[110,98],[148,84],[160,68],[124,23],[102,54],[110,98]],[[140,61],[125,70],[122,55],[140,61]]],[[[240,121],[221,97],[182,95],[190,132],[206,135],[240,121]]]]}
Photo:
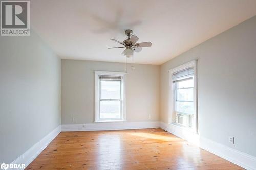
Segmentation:
{"type": "Polygon", "coordinates": [[[16,160],[14,160],[12,164],[25,164],[25,166],[27,167],[60,132],[61,125],[55,128],[52,132],[50,132],[40,141],[35,143],[30,149],[28,149],[25,153],[23,153],[16,160]]]}

